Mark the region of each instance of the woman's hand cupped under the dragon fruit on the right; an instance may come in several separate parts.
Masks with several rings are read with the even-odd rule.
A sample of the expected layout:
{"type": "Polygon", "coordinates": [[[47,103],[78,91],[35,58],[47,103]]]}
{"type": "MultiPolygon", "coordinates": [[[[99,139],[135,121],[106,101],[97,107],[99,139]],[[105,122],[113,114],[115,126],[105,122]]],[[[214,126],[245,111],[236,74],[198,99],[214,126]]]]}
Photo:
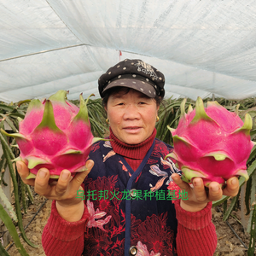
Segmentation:
{"type": "Polygon", "coordinates": [[[188,192],[188,200],[181,200],[180,202],[180,206],[188,212],[201,211],[207,206],[207,202],[218,201],[222,198],[222,195],[236,196],[239,190],[237,177],[230,177],[230,179],[227,180],[224,189],[220,188],[219,183],[212,182],[209,184],[208,191],[206,190],[201,177],[195,177],[193,179],[193,186],[183,182],[177,173],[172,174],[172,179],[181,190],[188,192]]]}

